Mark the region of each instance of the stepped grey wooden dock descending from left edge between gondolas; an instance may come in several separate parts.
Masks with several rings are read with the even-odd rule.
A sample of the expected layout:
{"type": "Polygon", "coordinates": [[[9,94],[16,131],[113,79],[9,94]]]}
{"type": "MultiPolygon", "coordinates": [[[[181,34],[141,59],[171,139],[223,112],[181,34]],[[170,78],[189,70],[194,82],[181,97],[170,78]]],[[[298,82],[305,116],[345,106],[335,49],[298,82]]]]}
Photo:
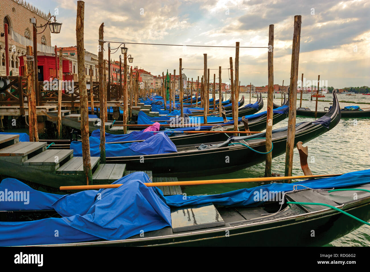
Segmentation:
{"type": "MultiPolygon", "coordinates": [[[[100,164],[100,157],[91,157],[93,184],[111,184],[124,175],[125,164],[100,164]]],[[[178,181],[177,178],[153,178],[152,182],[178,181]]],[[[73,150],[47,149],[46,142],[20,142],[19,135],[0,134],[0,174],[50,187],[86,185],[82,157],[73,157],[73,150]]],[[[182,194],[180,186],[161,186],[164,195],[182,194]]]]}

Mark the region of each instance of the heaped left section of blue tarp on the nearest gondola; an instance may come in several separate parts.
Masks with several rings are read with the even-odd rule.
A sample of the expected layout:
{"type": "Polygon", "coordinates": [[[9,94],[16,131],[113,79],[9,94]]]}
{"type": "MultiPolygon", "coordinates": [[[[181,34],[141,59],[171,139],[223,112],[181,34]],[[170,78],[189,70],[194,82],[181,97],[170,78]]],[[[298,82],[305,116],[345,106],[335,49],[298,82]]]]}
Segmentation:
{"type": "Polygon", "coordinates": [[[0,246],[117,240],[171,226],[170,209],[158,189],[143,184],[148,179],[144,172],[135,172],[115,181],[123,184],[118,188],[64,196],[36,191],[17,179],[3,179],[0,191],[30,192],[30,199],[28,204],[0,201],[0,210],[54,208],[63,217],[0,222],[0,246]]]}

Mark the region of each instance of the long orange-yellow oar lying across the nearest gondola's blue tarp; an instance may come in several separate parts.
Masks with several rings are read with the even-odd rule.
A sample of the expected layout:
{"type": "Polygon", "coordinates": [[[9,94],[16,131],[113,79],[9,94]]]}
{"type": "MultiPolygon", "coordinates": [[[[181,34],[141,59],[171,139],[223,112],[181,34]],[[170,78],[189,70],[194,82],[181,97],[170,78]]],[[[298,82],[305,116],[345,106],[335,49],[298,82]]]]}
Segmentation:
{"type": "MultiPolygon", "coordinates": [[[[332,175],[310,175],[310,176],[291,176],[291,177],[269,177],[269,178],[233,178],[233,179],[210,179],[197,181],[172,181],[172,182],[151,182],[144,183],[147,187],[155,186],[177,186],[177,185],[202,185],[202,184],[221,184],[221,183],[240,183],[240,182],[263,182],[263,181],[279,181],[289,179],[306,179],[306,178],[329,178],[336,177],[342,174],[332,175]]],[[[87,189],[108,189],[118,188],[122,184],[103,184],[103,185],[80,185],[80,186],[61,186],[60,190],[87,190],[87,189]]]]}

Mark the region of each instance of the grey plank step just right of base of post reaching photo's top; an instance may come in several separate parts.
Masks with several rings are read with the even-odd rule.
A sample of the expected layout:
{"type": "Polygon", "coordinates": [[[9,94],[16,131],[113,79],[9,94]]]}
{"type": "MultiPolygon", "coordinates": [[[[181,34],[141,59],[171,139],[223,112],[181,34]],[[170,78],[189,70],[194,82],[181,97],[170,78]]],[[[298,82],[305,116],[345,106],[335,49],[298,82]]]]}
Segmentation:
{"type": "Polygon", "coordinates": [[[92,175],[93,184],[115,182],[123,177],[125,169],[125,164],[100,164],[92,175]]]}

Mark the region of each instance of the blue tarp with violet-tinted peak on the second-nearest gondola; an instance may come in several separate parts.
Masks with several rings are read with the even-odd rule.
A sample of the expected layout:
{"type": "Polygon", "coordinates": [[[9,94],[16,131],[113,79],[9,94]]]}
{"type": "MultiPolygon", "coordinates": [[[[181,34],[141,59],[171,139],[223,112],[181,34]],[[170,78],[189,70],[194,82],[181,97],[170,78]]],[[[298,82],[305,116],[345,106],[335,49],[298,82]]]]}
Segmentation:
{"type": "MultiPolygon", "coordinates": [[[[90,137],[90,155],[100,157],[100,139],[90,137]]],[[[82,157],[82,142],[71,142],[70,148],[75,157],[82,157]]],[[[105,155],[107,157],[141,156],[152,154],[163,154],[177,152],[174,143],[164,132],[159,132],[143,142],[127,144],[105,144],[105,155]]]]}

